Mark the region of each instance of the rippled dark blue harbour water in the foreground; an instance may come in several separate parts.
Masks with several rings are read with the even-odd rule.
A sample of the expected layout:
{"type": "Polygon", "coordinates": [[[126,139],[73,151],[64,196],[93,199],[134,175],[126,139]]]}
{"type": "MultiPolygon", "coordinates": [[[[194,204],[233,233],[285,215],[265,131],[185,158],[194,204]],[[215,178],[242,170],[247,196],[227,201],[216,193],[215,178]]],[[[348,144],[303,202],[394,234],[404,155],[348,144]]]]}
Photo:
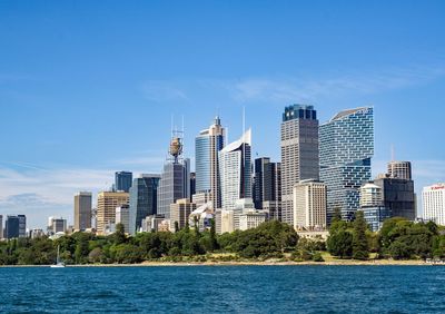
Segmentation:
{"type": "Polygon", "coordinates": [[[0,268],[0,312],[445,313],[445,267],[0,268]]]}

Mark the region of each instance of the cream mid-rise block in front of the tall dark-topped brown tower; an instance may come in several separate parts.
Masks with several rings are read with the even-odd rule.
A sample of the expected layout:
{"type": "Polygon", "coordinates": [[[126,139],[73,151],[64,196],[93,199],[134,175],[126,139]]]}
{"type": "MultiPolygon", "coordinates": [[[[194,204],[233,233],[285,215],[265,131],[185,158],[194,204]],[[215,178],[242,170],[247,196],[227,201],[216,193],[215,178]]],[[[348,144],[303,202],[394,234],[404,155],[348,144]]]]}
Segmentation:
{"type": "Polygon", "coordinates": [[[323,230],[326,228],[326,185],[301,180],[294,186],[294,228],[323,230]]]}

